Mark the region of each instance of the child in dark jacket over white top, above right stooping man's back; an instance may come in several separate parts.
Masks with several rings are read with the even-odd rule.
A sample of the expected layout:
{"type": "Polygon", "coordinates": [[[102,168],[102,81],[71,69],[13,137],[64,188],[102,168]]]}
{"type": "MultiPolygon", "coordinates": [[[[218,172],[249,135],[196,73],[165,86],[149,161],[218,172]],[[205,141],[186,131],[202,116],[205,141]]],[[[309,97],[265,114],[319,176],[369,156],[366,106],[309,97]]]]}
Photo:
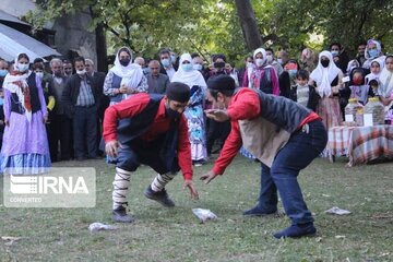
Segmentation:
{"type": "Polygon", "coordinates": [[[307,70],[299,70],[296,73],[296,85],[290,87],[289,98],[298,104],[315,111],[321,98],[315,87],[309,85],[310,73],[307,70]]]}

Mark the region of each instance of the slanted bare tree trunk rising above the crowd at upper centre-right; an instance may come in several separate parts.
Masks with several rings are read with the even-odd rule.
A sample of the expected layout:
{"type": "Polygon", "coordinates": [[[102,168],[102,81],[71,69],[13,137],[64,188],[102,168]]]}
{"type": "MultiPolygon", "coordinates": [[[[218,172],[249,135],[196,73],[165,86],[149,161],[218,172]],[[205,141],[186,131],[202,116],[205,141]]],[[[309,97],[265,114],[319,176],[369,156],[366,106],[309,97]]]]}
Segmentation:
{"type": "Polygon", "coordinates": [[[235,2],[247,48],[249,49],[249,51],[252,51],[262,46],[262,37],[258,28],[251,1],[235,0],[235,2]]]}

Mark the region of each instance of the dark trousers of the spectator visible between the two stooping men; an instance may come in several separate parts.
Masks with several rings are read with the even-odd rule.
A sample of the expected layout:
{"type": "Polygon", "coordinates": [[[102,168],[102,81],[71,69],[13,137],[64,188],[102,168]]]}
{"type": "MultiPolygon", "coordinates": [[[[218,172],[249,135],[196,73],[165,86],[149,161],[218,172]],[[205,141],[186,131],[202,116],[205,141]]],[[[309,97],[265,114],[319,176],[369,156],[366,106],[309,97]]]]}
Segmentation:
{"type": "Polygon", "coordinates": [[[229,133],[230,121],[217,122],[213,119],[209,119],[209,128],[206,135],[207,155],[212,154],[214,142],[219,139],[221,142],[224,143],[229,133]]]}

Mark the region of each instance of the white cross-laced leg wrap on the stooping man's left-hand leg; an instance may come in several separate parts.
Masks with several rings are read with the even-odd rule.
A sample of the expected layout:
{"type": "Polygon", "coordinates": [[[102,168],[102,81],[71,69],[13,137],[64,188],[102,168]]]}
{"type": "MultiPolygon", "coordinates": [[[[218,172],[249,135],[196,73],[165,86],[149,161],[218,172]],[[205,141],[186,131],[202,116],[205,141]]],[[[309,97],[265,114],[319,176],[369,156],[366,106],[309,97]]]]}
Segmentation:
{"type": "Polygon", "coordinates": [[[123,170],[119,167],[116,168],[115,181],[114,181],[114,210],[128,205],[127,193],[130,186],[131,172],[123,170]]]}

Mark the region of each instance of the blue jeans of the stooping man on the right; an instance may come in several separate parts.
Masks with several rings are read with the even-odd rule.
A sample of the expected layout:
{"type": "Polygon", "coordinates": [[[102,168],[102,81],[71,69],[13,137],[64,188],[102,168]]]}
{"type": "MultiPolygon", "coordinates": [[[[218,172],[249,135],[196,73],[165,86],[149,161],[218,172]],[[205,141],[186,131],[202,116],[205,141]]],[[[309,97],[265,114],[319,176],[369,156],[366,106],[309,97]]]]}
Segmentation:
{"type": "Polygon", "coordinates": [[[306,168],[327,143],[327,133],[319,120],[308,123],[309,129],[294,132],[288,143],[277,153],[269,168],[262,164],[261,192],[258,206],[264,213],[277,210],[277,190],[285,213],[293,224],[313,222],[297,181],[299,171],[306,168]]]}

